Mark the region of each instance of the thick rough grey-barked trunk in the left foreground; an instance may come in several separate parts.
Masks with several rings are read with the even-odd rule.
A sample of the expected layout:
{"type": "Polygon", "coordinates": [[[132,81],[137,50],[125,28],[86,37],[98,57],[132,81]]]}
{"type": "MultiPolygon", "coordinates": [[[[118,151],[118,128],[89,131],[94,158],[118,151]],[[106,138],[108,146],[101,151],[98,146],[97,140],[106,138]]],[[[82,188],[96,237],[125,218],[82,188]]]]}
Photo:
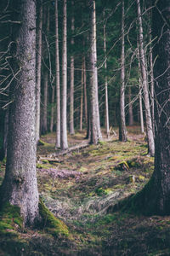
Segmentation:
{"type": "MultiPolygon", "coordinates": [[[[7,165],[1,202],[20,207],[25,224],[38,216],[36,175],[36,5],[34,0],[16,0],[20,26],[13,26],[14,70],[20,69],[10,86],[7,165]]],[[[16,14],[15,14],[16,19],[16,14]]]]}

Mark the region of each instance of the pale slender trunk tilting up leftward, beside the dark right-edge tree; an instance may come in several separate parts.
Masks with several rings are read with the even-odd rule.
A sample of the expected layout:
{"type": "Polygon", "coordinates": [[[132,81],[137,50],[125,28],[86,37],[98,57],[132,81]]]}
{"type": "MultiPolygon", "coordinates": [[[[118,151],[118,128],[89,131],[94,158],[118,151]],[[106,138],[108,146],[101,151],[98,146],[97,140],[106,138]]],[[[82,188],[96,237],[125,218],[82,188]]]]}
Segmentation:
{"type": "Polygon", "coordinates": [[[139,16],[139,58],[140,58],[140,65],[141,65],[141,71],[142,71],[142,82],[143,82],[143,91],[144,91],[146,132],[147,132],[147,138],[148,138],[148,154],[150,154],[150,156],[154,156],[155,144],[154,144],[154,136],[153,136],[153,130],[152,130],[152,122],[151,122],[148,79],[147,79],[147,70],[146,70],[145,58],[144,58],[143,26],[142,26],[142,17],[141,17],[139,0],[137,0],[137,7],[138,7],[138,16],[139,16]]]}

